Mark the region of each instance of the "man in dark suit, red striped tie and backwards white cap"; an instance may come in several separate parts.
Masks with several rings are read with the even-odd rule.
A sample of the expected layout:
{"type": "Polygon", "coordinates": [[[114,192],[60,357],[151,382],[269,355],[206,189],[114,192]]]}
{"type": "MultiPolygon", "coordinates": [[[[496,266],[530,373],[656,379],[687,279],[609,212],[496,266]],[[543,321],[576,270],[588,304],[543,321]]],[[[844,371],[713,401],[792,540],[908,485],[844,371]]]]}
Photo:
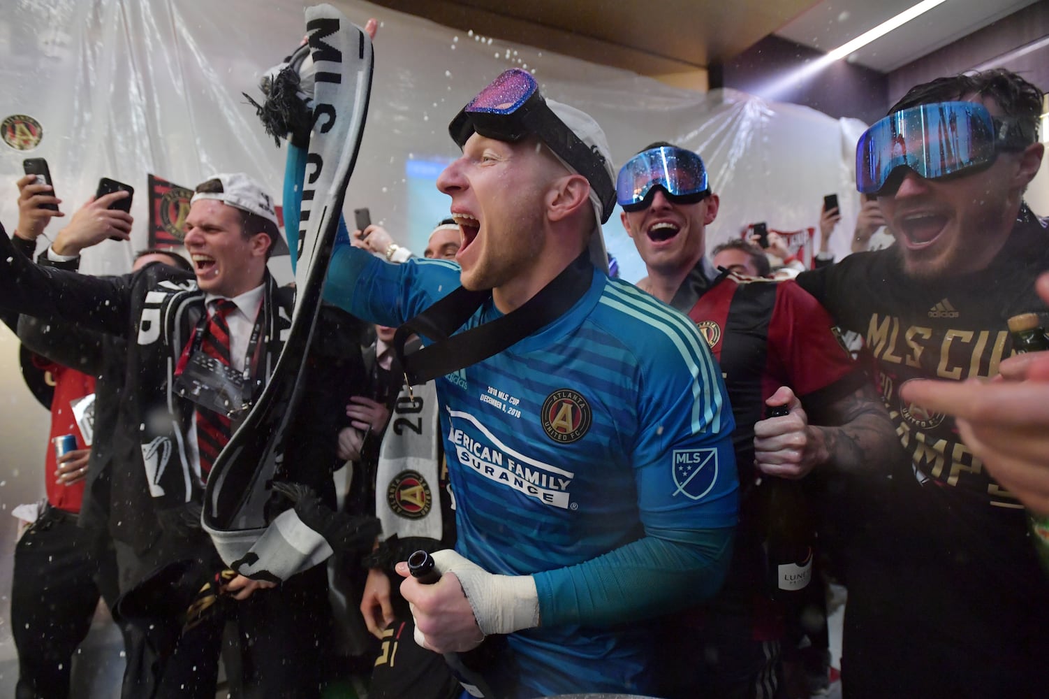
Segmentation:
{"type": "MultiPolygon", "coordinates": [[[[193,570],[214,573],[223,568],[199,529],[208,469],[222,444],[208,444],[209,427],[200,422],[202,411],[195,403],[200,394],[239,387],[240,405],[230,410],[235,429],[276,366],[294,301],[294,291],[278,288],[266,270],[278,236],[273,199],[242,173],[215,175],[196,188],[185,239],[192,274],[151,264],[121,277],[82,276],[33,264],[6,235],[0,236],[0,303],[127,340],[125,399],[131,424],[138,425],[149,489],[162,525],[163,545],[154,547],[152,562],[157,567],[190,562],[193,570]],[[197,374],[195,382],[187,380],[190,375],[184,375],[201,352],[214,308],[227,300],[233,303],[224,313],[229,366],[214,375],[197,374]]],[[[79,252],[52,248],[48,254],[61,260],[79,252]]],[[[287,469],[296,463],[303,462],[290,463],[287,469]]],[[[331,492],[329,474],[305,466],[282,475],[322,495],[331,492]]],[[[291,578],[278,590],[266,589],[274,587],[242,576],[222,585],[227,593],[222,598],[236,600],[228,607],[238,622],[242,652],[239,677],[231,680],[242,681],[244,696],[261,696],[263,683],[269,697],[319,696],[316,649],[323,648],[325,639],[319,634],[329,617],[323,567],[291,578]]],[[[176,605],[156,614],[175,612],[174,623],[180,628],[184,610],[176,605]]],[[[167,621],[170,628],[172,620],[167,621]]],[[[222,616],[214,615],[177,638],[173,654],[158,669],[155,696],[214,696],[222,626],[222,616]]]]}

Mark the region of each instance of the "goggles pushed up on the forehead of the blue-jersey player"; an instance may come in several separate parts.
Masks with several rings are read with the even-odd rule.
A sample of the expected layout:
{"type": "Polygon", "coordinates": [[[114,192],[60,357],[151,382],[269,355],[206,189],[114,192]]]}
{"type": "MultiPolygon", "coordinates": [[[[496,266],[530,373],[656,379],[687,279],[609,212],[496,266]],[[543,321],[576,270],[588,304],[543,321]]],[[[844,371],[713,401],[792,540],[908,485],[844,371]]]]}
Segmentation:
{"type": "Polygon", "coordinates": [[[493,80],[455,115],[448,132],[459,148],[475,132],[486,139],[511,143],[528,135],[538,136],[558,157],[586,177],[601,200],[604,220],[612,215],[616,190],[604,158],[557,118],[539,93],[535,78],[527,70],[511,68],[493,80]]]}

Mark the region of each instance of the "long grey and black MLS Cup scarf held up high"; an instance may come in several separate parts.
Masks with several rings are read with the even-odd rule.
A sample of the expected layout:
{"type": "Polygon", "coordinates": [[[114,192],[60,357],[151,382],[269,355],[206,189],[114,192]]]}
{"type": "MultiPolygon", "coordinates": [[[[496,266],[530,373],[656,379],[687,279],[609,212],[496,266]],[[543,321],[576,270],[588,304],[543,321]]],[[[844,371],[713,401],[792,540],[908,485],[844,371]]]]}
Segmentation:
{"type": "Polygon", "coordinates": [[[292,326],[270,383],[215,463],[202,515],[205,530],[230,568],[269,580],[287,579],[331,555],[327,542],[294,510],[266,526],[264,507],[272,494],[269,484],[285,459],[284,432],[301,395],[297,379],[360,148],[373,65],[368,35],[335,7],[308,7],[305,17],[316,73],[292,326]]]}

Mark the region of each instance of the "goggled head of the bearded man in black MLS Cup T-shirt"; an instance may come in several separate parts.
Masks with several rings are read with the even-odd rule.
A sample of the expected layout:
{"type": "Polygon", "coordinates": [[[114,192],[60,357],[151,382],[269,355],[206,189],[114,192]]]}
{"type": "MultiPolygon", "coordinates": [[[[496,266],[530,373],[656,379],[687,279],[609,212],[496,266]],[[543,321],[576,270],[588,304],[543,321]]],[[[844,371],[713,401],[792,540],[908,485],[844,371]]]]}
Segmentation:
{"type": "Polygon", "coordinates": [[[1016,99],[1008,92],[934,94],[949,97],[904,98],[856,147],[856,188],[878,197],[904,272],[924,278],[986,267],[1020,203],[1016,168],[1036,171],[1040,160],[1041,108],[1011,111],[999,101],[1016,99]]]}

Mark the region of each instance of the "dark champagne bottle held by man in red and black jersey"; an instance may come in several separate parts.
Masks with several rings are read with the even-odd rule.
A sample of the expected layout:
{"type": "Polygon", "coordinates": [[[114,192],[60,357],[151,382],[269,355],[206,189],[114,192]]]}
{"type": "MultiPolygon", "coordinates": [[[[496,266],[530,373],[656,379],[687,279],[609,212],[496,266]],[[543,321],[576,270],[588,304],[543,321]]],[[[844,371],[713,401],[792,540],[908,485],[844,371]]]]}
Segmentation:
{"type": "MultiPolygon", "coordinates": [[[[789,412],[786,405],[774,405],[766,417],[789,412]]],[[[808,499],[799,482],[774,475],[764,476],[758,488],[764,493],[759,521],[769,593],[780,601],[798,599],[812,581],[815,532],[808,499]]]]}

